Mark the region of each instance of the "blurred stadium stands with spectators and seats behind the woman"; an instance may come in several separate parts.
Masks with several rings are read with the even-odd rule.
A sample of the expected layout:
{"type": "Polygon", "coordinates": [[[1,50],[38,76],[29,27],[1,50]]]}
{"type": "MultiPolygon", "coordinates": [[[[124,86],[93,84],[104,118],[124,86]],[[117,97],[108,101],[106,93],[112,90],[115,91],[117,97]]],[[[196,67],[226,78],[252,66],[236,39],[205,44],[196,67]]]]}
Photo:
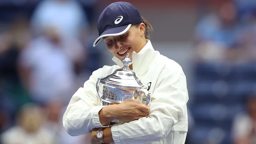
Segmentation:
{"type": "MultiPolygon", "coordinates": [[[[62,116],[92,72],[115,64],[97,19],[114,0],[0,0],[0,143],[87,144],[62,116]]],[[[127,0],[154,49],[187,76],[186,144],[256,144],[256,0],[127,0]]]]}

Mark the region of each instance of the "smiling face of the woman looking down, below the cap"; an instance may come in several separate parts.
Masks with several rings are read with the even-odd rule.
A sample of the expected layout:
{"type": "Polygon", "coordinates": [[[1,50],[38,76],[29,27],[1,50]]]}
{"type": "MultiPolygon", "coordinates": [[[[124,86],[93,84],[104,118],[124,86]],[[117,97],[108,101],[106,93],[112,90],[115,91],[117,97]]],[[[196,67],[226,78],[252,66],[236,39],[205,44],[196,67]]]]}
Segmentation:
{"type": "Polygon", "coordinates": [[[144,36],[145,24],[140,23],[139,27],[132,25],[130,29],[120,36],[104,37],[108,50],[116,55],[120,60],[123,60],[127,53],[132,59],[132,52],[140,52],[145,46],[146,39],[144,36]]]}

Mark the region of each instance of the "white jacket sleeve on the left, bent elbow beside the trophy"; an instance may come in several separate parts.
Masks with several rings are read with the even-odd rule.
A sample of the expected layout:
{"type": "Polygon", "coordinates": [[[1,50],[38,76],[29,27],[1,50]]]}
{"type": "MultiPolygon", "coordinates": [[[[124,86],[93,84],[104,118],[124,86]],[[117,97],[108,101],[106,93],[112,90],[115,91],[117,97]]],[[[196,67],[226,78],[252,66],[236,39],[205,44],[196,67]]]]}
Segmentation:
{"type": "Polygon", "coordinates": [[[79,88],[72,96],[67,110],[63,116],[63,126],[71,136],[78,136],[92,132],[92,129],[102,126],[99,120],[101,106],[96,91],[96,82],[102,68],[94,71],[89,80],[84,83],[84,88],[79,88]]]}

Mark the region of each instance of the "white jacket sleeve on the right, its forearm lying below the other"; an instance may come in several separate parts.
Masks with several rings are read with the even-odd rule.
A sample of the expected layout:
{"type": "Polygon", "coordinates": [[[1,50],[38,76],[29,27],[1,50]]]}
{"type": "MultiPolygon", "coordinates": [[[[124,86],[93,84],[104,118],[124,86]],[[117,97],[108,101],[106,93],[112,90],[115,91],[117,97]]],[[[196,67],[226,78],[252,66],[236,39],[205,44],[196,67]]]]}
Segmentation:
{"type": "MultiPolygon", "coordinates": [[[[160,74],[161,75],[161,74],[160,74]]],[[[148,118],[111,127],[115,144],[139,144],[163,140],[172,127],[187,115],[188,91],[183,72],[159,76],[160,84],[152,93],[148,118]],[[162,79],[160,78],[162,77],[162,79]]]]}

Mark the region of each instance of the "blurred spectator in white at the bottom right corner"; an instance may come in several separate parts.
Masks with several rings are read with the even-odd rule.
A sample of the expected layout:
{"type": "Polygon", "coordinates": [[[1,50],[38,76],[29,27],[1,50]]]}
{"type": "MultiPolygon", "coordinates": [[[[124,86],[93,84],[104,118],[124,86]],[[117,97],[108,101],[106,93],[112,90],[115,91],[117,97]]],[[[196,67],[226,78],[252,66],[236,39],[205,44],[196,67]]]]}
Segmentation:
{"type": "Polygon", "coordinates": [[[247,100],[247,113],[238,114],[233,122],[234,144],[256,143],[256,95],[247,100]]]}

